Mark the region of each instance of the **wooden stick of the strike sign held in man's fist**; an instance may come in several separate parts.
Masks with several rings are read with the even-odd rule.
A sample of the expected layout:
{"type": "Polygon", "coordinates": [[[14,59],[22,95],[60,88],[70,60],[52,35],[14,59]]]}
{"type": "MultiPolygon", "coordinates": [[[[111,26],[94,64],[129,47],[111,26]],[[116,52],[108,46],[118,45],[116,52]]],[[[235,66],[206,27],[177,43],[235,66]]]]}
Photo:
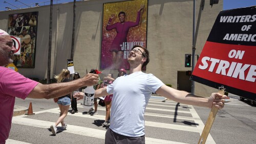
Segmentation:
{"type": "MultiPolygon", "coordinates": [[[[222,86],[219,89],[220,90],[218,91],[218,93],[224,95],[224,93],[225,93],[224,87],[222,86]]],[[[212,124],[214,123],[214,119],[215,119],[215,116],[216,116],[218,110],[219,110],[218,108],[212,106],[210,114],[209,114],[208,119],[206,121],[206,124],[204,126],[204,130],[203,130],[203,132],[200,136],[200,139],[198,141],[198,144],[204,144],[205,143],[205,141],[208,137],[208,134],[210,132],[210,128],[211,128],[212,124]]]]}

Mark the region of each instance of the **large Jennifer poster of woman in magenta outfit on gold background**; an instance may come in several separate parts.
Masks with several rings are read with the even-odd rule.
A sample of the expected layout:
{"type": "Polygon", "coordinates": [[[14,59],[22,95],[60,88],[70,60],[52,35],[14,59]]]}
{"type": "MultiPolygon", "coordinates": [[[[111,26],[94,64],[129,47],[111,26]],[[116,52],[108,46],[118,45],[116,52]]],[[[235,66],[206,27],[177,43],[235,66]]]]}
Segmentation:
{"type": "Polygon", "coordinates": [[[147,0],[103,4],[100,69],[130,69],[129,50],[146,47],[146,30],[147,0]]]}

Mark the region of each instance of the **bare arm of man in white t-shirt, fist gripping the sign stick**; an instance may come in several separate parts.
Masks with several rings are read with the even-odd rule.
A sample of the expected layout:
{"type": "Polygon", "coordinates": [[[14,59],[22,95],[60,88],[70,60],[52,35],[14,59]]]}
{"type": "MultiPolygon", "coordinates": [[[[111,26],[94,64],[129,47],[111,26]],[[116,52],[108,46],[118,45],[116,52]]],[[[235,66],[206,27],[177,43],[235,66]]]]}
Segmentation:
{"type": "Polygon", "coordinates": [[[218,109],[224,107],[225,98],[227,98],[226,95],[221,95],[219,93],[212,93],[209,98],[200,97],[185,91],[170,88],[166,85],[161,86],[156,93],[182,104],[208,108],[214,106],[218,109]]]}

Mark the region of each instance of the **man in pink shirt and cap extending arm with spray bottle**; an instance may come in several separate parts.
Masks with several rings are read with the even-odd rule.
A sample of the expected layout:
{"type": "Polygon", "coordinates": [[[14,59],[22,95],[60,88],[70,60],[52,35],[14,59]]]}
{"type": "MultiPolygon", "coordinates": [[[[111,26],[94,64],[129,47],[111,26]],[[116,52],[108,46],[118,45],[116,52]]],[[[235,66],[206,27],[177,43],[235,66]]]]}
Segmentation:
{"type": "Polygon", "coordinates": [[[90,73],[67,83],[42,85],[4,67],[13,62],[14,51],[10,35],[0,29],[0,144],[5,143],[9,136],[15,97],[50,99],[98,83],[98,75],[90,73]]]}

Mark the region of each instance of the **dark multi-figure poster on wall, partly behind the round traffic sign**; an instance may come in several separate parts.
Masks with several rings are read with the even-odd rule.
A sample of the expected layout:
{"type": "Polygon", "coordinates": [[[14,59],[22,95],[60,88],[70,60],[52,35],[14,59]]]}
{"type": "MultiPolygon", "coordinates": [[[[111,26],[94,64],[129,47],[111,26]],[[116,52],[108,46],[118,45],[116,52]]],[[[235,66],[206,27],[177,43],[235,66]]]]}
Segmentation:
{"type": "Polygon", "coordinates": [[[10,14],[8,30],[10,35],[20,37],[20,55],[14,55],[17,68],[35,67],[35,50],[38,12],[10,14]]]}

